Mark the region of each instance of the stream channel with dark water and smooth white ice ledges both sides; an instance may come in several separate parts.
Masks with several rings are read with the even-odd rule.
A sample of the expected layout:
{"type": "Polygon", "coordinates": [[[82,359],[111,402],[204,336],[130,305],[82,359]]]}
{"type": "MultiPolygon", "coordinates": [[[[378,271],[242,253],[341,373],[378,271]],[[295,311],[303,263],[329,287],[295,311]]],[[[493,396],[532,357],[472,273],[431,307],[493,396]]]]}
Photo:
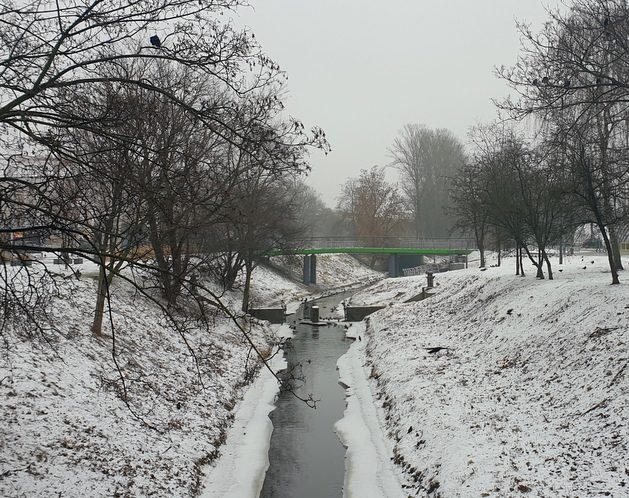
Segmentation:
{"type": "MultiPolygon", "coordinates": [[[[347,297],[318,299],[322,317],[338,316],[347,297]]],[[[290,325],[278,328],[290,347],[272,365],[292,370],[292,387],[301,397],[313,394],[317,408],[288,391],[278,394],[275,378],[263,373],[237,409],[218,464],[207,469],[202,496],[404,496],[362,371],[364,343],[353,341],[364,324],[293,326],[294,333],[290,325]]]]}

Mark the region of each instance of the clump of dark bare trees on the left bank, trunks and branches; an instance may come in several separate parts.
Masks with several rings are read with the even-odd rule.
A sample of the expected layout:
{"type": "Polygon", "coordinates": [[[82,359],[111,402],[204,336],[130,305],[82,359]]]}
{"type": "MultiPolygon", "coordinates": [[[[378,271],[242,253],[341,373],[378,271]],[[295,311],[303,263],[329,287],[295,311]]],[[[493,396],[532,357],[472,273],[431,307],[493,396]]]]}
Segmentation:
{"type": "MultiPolygon", "coordinates": [[[[220,21],[219,14],[241,4],[36,0],[0,6],[0,249],[24,258],[28,249],[81,254],[107,276],[134,284],[186,342],[186,326],[171,308],[194,288],[191,261],[197,256],[196,234],[207,226],[205,215],[216,212],[216,203],[237,183],[220,171],[225,149],[238,149],[250,165],[278,179],[308,169],[307,147],[328,150],[320,129],[306,131],[295,119],[281,119],[285,75],[250,33],[220,21]],[[107,88],[118,97],[99,101],[107,88]],[[88,140],[79,146],[81,136],[88,140]],[[112,169],[92,184],[90,178],[96,180],[107,163],[112,169]],[[124,172],[118,171],[122,165],[128,167],[124,172]],[[106,214],[101,220],[95,219],[98,210],[106,214]],[[119,251],[136,228],[142,232],[138,240],[146,235],[151,242],[155,263],[119,251]],[[20,248],[18,235],[28,240],[20,248]],[[80,247],[85,240],[90,245],[80,247]],[[114,260],[157,276],[166,301],[109,265],[114,260]]],[[[20,296],[39,296],[51,287],[34,282],[28,267],[21,271],[26,289],[23,283],[11,287],[9,277],[2,282],[3,323],[15,317],[11,307],[20,296]]],[[[52,279],[52,272],[45,275],[52,279]]],[[[108,287],[108,278],[101,282],[108,287]]],[[[204,326],[211,327],[204,314],[210,303],[233,320],[264,361],[234,311],[208,286],[198,288],[203,296],[192,301],[204,326]]],[[[24,306],[20,313],[41,327],[38,311],[45,310],[46,300],[35,302],[41,307],[24,306]]],[[[97,304],[95,331],[98,309],[97,304]]],[[[112,361],[128,405],[116,347],[112,323],[112,361]]]]}

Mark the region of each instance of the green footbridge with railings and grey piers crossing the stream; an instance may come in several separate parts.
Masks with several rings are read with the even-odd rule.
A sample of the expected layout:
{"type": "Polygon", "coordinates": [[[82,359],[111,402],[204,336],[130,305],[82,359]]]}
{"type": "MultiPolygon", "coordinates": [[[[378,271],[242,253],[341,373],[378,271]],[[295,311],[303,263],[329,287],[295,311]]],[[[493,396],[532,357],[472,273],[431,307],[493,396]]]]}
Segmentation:
{"type": "Polygon", "coordinates": [[[420,266],[424,256],[462,256],[476,250],[473,239],[415,237],[312,237],[296,241],[292,248],[274,249],[265,256],[303,254],[304,283],[317,283],[317,254],[382,254],[389,256],[389,276],[399,277],[405,268],[420,266]]]}

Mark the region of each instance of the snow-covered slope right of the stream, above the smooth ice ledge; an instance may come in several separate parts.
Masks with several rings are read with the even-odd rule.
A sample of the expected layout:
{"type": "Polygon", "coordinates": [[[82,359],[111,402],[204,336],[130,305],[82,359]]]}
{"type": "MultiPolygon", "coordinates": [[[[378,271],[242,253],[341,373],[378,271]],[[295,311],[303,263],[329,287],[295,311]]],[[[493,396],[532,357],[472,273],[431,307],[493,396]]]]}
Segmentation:
{"type": "MultiPolygon", "coordinates": [[[[408,495],[629,494],[629,287],[601,256],[555,261],[553,281],[527,270],[440,273],[434,297],[369,318],[364,360],[408,495]]],[[[425,277],[397,282],[385,302],[425,277]]]]}

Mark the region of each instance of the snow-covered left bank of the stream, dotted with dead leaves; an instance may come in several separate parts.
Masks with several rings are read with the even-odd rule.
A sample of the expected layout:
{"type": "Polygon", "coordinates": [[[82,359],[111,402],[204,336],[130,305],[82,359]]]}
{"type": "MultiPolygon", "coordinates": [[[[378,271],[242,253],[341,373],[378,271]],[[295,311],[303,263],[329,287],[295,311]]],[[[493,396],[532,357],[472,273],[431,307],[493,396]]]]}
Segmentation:
{"type": "MultiPolygon", "coordinates": [[[[315,291],[380,277],[354,261],[321,258],[315,291]]],[[[195,496],[222,452],[265,454],[264,418],[277,385],[270,373],[255,379],[259,364],[233,323],[217,314],[208,330],[194,316],[182,316],[185,330],[178,333],[154,302],[114,280],[123,386],[110,327],[105,324],[102,338],[90,332],[95,267],[79,265],[80,278],[53,268],[59,274],[49,307],[54,330],[42,336],[4,329],[0,336],[0,496],[195,496]],[[254,437],[233,436],[228,450],[234,420],[231,433],[254,437]]],[[[263,266],[254,273],[252,294],[260,302],[299,301],[311,290],[263,266]]],[[[237,292],[223,299],[239,308],[237,292]]],[[[246,325],[271,352],[273,330],[258,321],[246,325]]],[[[264,461],[245,461],[247,475],[260,479],[264,461]]],[[[206,496],[216,496],[207,489],[206,496]]]]}

